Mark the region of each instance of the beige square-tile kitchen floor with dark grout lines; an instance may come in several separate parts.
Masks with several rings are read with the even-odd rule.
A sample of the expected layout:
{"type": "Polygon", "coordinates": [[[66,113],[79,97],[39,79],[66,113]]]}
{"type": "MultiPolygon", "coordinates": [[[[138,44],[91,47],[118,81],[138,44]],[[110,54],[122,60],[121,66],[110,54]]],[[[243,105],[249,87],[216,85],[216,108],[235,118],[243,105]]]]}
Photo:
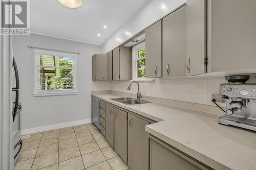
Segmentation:
{"type": "Polygon", "coordinates": [[[126,170],[129,167],[94,124],[23,136],[15,170],[126,170]]]}

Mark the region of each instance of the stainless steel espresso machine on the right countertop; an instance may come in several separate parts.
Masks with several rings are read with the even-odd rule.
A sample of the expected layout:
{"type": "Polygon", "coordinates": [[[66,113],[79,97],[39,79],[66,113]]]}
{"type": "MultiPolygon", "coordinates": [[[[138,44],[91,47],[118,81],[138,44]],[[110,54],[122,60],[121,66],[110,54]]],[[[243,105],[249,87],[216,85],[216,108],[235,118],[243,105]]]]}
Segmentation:
{"type": "Polygon", "coordinates": [[[256,84],[246,84],[249,75],[226,76],[227,84],[220,85],[226,100],[226,114],[218,123],[256,131],[256,84]]]}

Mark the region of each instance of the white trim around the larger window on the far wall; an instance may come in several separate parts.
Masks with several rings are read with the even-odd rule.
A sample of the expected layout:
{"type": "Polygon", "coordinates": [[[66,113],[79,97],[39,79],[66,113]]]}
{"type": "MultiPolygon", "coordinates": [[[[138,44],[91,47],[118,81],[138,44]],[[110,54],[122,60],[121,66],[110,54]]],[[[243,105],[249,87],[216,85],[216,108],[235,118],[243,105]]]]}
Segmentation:
{"type": "Polygon", "coordinates": [[[53,95],[75,95],[77,94],[77,65],[76,65],[76,54],[60,53],[45,50],[34,50],[34,93],[33,96],[53,96],[53,95]],[[38,90],[37,89],[37,64],[38,55],[49,55],[49,56],[61,56],[73,58],[73,89],[59,89],[59,90],[38,90]]]}

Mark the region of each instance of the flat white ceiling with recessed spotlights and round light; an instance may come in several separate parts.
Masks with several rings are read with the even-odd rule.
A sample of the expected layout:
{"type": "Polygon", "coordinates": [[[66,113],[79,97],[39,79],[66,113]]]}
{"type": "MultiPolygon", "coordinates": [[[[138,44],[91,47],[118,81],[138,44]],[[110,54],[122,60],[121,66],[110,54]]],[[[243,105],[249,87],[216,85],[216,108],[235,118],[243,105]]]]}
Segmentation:
{"type": "Polygon", "coordinates": [[[82,7],[69,9],[57,0],[33,0],[30,1],[30,30],[32,33],[102,45],[148,1],[84,0],[82,7]]]}

